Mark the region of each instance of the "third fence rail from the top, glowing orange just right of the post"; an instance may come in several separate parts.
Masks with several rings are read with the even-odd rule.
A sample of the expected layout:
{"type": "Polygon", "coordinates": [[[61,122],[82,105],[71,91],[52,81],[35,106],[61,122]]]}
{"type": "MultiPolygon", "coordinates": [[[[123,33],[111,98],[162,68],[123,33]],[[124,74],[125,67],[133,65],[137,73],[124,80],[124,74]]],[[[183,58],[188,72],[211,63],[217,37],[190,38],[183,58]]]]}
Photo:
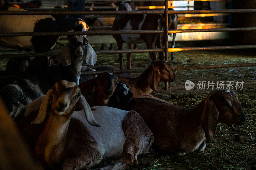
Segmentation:
{"type": "MultiPolygon", "coordinates": [[[[168,52],[180,51],[200,51],[200,50],[228,50],[228,49],[248,49],[256,48],[256,45],[241,45],[241,46],[205,46],[205,47],[180,47],[168,48],[168,52]]],[[[96,54],[116,54],[116,53],[148,53],[148,52],[164,52],[162,48],[156,49],[137,49],[137,50],[100,50],[95,51],[96,54]]],[[[1,54],[0,59],[3,58],[26,58],[26,57],[46,57],[58,55],[59,53],[24,53],[24,54],[1,54]]]]}

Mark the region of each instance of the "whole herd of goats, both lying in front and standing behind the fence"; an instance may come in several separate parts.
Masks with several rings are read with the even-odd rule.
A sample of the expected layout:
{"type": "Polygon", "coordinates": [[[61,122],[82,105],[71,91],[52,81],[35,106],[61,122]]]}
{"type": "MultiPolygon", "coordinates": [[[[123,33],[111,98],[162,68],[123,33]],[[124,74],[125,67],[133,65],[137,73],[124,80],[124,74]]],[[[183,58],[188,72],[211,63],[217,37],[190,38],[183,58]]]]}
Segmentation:
{"type": "MultiPolygon", "coordinates": [[[[127,10],[130,2],[123,3],[127,10]]],[[[21,9],[9,7],[6,10],[21,9]]],[[[118,17],[123,22],[117,26],[136,30],[134,23],[143,20],[150,26],[157,26],[150,21],[160,22],[162,16],[140,15],[136,18],[138,22],[132,22],[134,16],[118,17]]],[[[81,19],[64,20],[50,15],[0,15],[0,22],[2,32],[88,30],[81,19]],[[29,22],[31,20],[38,21],[34,24],[29,22]],[[20,24],[23,22],[26,25],[20,24]]],[[[137,25],[138,29],[143,26],[145,24],[137,25]]],[[[138,38],[132,36],[136,35],[116,35],[116,40],[123,44],[138,38]]],[[[156,39],[161,39],[157,34],[153,36],[140,38],[152,48],[148,41],[154,46],[156,39]],[[155,39],[153,43],[152,39],[155,39]]],[[[2,46],[33,49],[39,53],[50,50],[58,38],[1,37],[0,42],[2,46]]],[[[11,59],[9,69],[15,65],[13,69],[23,69],[26,73],[11,82],[2,81],[0,96],[35,157],[45,168],[52,169],[91,168],[105,158],[113,158],[115,162],[100,169],[125,169],[138,164],[138,155],[147,152],[179,156],[201,152],[206,146],[205,138],[213,139],[217,124],[245,123],[243,108],[233,91],[212,91],[188,110],[150,95],[153,90],[157,91],[160,81],[175,80],[174,71],[162,54],[159,54],[160,61],[156,61],[156,54],[150,57],[151,65],[136,78],[107,72],[94,77],[83,76],[81,71],[106,68],[83,66],[84,60],[87,65],[94,65],[96,53],[86,36],[68,37],[68,43],[53,58],[35,58],[27,62],[27,68],[24,59],[23,63],[11,59]]]]}

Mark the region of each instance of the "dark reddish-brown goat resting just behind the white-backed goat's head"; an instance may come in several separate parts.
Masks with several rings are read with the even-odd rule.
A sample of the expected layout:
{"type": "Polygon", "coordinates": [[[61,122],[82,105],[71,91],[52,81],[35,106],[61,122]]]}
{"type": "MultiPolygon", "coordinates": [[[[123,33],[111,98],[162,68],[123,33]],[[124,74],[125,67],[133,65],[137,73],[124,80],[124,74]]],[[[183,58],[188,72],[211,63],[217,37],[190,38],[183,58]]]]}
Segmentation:
{"type": "Polygon", "coordinates": [[[118,78],[114,74],[104,72],[98,77],[80,83],[79,87],[91,107],[106,106],[116,89],[117,81],[118,78]]]}

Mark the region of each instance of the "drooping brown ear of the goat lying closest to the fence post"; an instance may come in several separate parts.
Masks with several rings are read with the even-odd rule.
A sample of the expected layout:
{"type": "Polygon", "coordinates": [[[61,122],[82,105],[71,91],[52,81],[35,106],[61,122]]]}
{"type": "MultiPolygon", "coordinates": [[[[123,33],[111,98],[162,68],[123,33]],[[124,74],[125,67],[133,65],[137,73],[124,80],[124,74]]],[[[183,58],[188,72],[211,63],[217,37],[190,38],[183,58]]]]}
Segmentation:
{"type": "Polygon", "coordinates": [[[157,88],[160,82],[160,76],[161,76],[160,72],[158,71],[158,69],[154,67],[151,69],[148,75],[148,85],[154,91],[157,91],[157,88]]]}

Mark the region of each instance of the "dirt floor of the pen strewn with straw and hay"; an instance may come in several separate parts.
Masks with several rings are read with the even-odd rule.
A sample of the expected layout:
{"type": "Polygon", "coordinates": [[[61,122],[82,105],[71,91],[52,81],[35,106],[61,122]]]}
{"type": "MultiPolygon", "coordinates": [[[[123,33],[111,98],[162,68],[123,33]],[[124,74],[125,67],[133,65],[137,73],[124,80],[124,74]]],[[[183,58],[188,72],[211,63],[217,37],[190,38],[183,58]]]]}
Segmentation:
{"type": "MultiPolygon", "coordinates": [[[[109,45],[108,45],[109,46],[109,45]]],[[[183,46],[177,43],[177,47],[183,46]]],[[[202,45],[204,46],[204,45],[202,45]]],[[[99,50],[100,46],[93,46],[99,50]]],[[[139,48],[145,48],[140,45],[139,48]]],[[[56,48],[58,49],[58,48],[56,48]]],[[[107,49],[107,47],[106,47],[107,49]]],[[[115,46],[115,49],[116,46],[115,46]]],[[[14,53],[11,51],[8,53],[14,53]]],[[[6,52],[0,52],[6,53],[6,52]]],[[[132,54],[132,68],[147,67],[148,53],[132,54]]],[[[7,60],[0,60],[3,70],[7,60]]],[[[232,64],[240,62],[256,62],[255,50],[225,50],[225,51],[198,51],[176,52],[175,60],[169,61],[171,66],[183,65],[214,65],[232,64]]],[[[124,63],[126,58],[124,54],[124,63]]],[[[118,54],[98,55],[95,67],[119,67],[118,54]]],[[[237,131],[221,124],[217,127],[214,139],[205,140],[204,152],[192,152],[177,157],[163,153],[150,153],[138,157],[139,165],[131,169],[160,170],[160,169],[256,169],[256,67],[219,68],[204,70],[176,71],[176,81],[170,83],[171,90],[160,91],[152,95],[167,100],[184,108],[192,108],[202,101],[212,90],[185,90],[185,81],[244,81],[243,89],[234,90],[246,113],[246,124],[236,126],[237,131]],[[175,90],[174,90],[175,89],[175,90]]],[[[132,74],[134,76],[138,74],[132,74]]],[[[214,87],[216,88],[216,87],[214,87]]]]}

